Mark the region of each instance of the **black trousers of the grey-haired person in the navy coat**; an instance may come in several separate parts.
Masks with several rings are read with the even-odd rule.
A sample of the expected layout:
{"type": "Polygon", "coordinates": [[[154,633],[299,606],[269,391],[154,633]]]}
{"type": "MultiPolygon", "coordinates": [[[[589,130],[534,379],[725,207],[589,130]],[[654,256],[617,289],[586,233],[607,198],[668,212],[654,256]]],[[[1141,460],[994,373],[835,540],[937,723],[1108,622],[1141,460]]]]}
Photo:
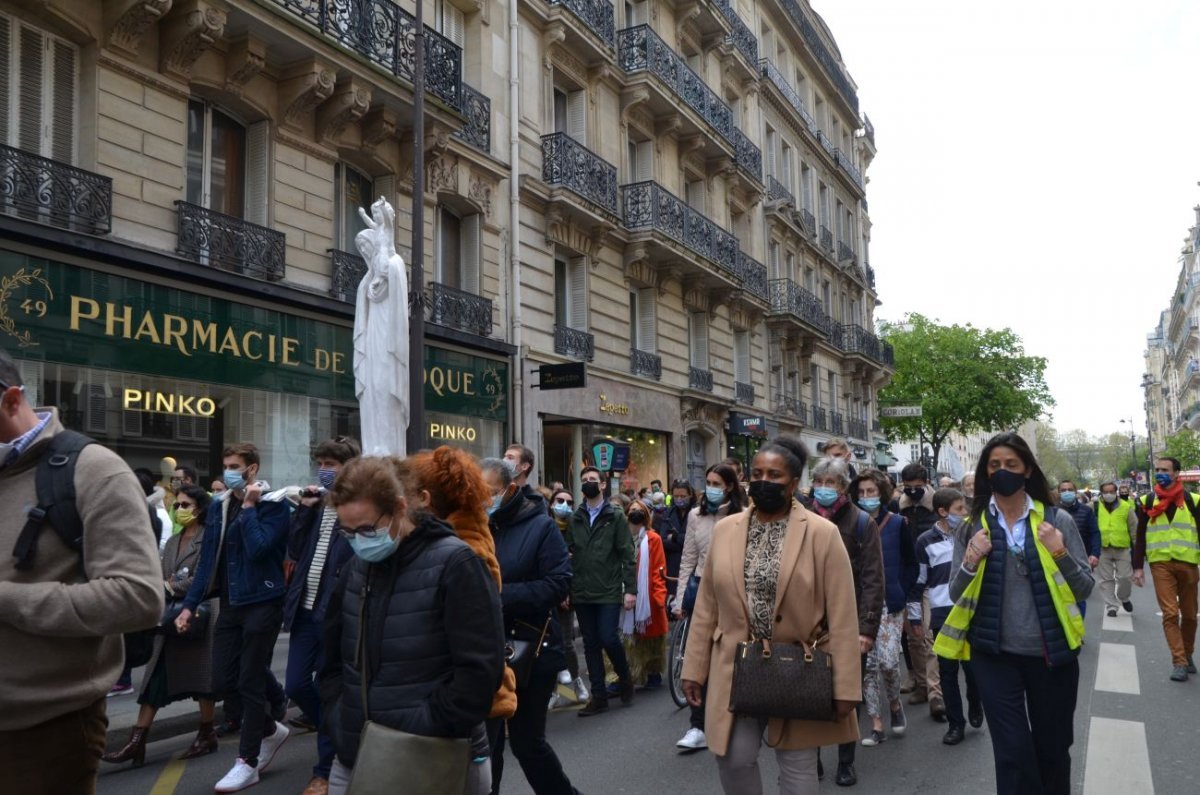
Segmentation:
{"type": "MultiPolygon", "coordinates": [[[[546,710],[557,681],[557,671],[535,671],[524,687],[517,688],[517,711],[506,722],[512,755],[536,795],[574,795],[576,791],[563,772],[554,749],[546,742],[546,710]]],[[[500,777],[504,776],[504,724],[502,718],[487,722],[487,740],[492,746],[492,795],[500,791],[500,777]]]]}

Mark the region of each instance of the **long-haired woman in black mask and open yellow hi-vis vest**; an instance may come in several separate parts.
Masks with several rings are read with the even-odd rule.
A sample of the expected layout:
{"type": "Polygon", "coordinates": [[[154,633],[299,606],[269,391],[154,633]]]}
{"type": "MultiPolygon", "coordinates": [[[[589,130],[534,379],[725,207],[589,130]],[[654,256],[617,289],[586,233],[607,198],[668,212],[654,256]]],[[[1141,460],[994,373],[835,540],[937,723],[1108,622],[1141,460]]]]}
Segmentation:
{"type": "Polygon", "coordinates": [[[970,659],[1004,795],[1069,793],[1087,552],[1030,446],[994,436],[976,467],[970,520],[955,533],[954,606],[934,644],[970,659]]]}

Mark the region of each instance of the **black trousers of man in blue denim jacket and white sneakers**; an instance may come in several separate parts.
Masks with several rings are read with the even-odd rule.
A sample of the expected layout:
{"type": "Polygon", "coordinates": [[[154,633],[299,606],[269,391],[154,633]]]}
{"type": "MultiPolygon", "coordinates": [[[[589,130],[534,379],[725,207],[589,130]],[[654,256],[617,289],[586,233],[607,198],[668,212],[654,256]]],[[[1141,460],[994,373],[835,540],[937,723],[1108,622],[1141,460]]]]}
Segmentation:
{"type": "Polygon", "coordinates": [[[212,689],[218,697],[233,692],[241,697],[238,755],[251,765],[258,764],[263,736],[275,734],[275,721],[268,715],[266,679],[282,622],[282,598],[239,606],[222,604],[217,617],[212,689]]]}

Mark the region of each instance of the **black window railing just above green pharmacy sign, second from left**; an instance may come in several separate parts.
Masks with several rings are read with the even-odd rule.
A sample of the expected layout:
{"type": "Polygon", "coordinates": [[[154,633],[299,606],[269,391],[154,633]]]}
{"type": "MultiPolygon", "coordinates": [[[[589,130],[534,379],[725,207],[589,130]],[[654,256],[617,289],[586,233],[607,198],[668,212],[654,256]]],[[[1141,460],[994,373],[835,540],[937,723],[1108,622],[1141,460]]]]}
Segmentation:
{"type": "Polygon", "coordinates": [[[175,219],[180,256],[254,279],[283,279],[282,232],[188,202],[175,202],[175,219]]]}

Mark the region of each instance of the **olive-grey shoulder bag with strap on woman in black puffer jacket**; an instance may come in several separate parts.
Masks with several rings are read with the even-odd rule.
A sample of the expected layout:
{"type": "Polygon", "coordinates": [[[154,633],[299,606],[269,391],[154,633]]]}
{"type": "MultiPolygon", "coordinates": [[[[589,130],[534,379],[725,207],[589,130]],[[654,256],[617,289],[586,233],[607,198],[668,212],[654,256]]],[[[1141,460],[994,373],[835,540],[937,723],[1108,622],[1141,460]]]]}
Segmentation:
{"type": "MultiPolygon", "coordinates": [[[[370,576],[370,575],[368,575],[370,576]]],[[[359,659],[362,668],[362,734],[347,795],[446,795],[467,788],[470,740],[426,737],[385,727],[371,719],[367,704],[367,599],[359,608],[359,659]]]]}

